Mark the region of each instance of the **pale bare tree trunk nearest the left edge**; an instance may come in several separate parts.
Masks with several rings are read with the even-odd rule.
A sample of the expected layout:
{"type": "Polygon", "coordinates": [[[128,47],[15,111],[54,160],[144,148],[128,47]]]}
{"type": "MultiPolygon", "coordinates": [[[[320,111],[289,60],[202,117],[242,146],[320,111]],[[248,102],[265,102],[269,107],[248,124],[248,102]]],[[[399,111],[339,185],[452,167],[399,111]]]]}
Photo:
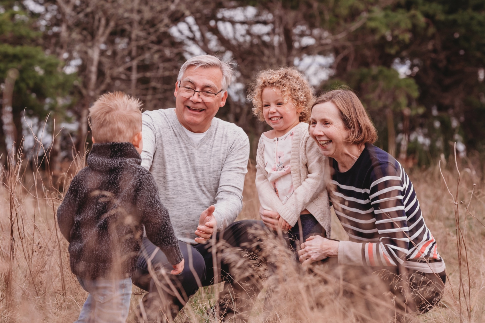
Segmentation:
{"type": "Polygon", "coordinates": [[[5,146],[8,151],[8,160],[11,165],[15,165],[15,141],[17,137],[17,129],[14,123],[14,115],[12,113],[12,98],[14,95],[14,85],[18,78],[18,70],[16,68],[10,68],[7,71],[7,78],[5,79],[5,88],[3,90],[2,101],[2,122],[3,122],[3,134],[5,135],[5,146]]]}

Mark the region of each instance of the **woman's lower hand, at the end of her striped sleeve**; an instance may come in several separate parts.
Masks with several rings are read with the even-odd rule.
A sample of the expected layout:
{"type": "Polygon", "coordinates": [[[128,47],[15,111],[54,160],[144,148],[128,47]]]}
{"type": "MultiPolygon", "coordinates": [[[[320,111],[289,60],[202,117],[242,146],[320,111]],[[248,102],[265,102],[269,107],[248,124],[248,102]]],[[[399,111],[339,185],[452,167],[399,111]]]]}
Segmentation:
{"type": "Polygon", "coordinates": [[[322,236],[311,236],[302,243],[301,248],[298,251],[300,262],[309,265],[327,257],[336,257],[339,254],[339,241],[329,240],[322,236]]]}

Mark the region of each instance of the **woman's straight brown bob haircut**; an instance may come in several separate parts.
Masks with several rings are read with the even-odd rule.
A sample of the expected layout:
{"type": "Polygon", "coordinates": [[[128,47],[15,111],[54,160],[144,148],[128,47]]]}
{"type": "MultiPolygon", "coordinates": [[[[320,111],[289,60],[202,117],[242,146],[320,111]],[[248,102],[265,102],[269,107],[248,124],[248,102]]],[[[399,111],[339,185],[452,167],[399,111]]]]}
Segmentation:
{"type": "Polygon", "coordinates": [[[374,143],[377,140],[377,131],[359,98],[351,89],[337,89],[323,93],[311,106],[320,103],[332,102],[340,111],[340,118],[345,129],[350,130],[346,139],[352,144],[374,143]]]}

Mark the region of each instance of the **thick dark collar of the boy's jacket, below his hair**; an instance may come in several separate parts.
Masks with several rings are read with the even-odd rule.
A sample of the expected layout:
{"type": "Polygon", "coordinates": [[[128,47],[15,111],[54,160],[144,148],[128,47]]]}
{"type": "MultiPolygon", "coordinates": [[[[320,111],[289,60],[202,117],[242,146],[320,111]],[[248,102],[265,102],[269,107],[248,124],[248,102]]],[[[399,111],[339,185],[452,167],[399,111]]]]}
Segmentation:
{"type": "Polygon", "coordinates": [[[93,170],[109,171],[127,163],[141,165],[142,157],[130,142],[108,142],[93,144],[87,163],[93,170]]]}

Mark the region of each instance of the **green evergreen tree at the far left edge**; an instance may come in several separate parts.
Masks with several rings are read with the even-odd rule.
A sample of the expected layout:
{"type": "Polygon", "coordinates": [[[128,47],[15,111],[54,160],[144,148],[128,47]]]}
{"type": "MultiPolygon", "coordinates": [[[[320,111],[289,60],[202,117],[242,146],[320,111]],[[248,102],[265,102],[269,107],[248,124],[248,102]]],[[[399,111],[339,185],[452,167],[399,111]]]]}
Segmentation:
{"type": "MultiPolygon", "coordinates": [[[[0,80],[5,80],[3,89],[13,82],[12,93],[3,90],[0,150],[3,158],[15,141],[18,151],[23,138],[22,120],[44,122],[49,113],[58,115],[72,103],[68,95],[75,74],[66,75],[60,61],[46,55],[41,45],[42,33],[35,30],[35,17],[18,2],[2,1],[0,7],[0,80]],[[15,78],[9,75],[15,75],[15,78]],[[9,108],[10,107],[10,108],[9,108]],[[25,111],[25,112],[24,112],[25,111]],[[11,116],[9,116],[9,114],[11,116]],[[13,120],[14,129],[8,128],[13,120]],[[7,122],[5,122],[7,121],[7,122]],[[9,136],[14,136],[10,138],[9,136]]],[[[60,122],[60,120],[56,120],[60,122]]],[[[10,125],[11,126],[11,125],[10,125]]],[[[46,129],[51,131],[51,129],[46,129]]]]}

